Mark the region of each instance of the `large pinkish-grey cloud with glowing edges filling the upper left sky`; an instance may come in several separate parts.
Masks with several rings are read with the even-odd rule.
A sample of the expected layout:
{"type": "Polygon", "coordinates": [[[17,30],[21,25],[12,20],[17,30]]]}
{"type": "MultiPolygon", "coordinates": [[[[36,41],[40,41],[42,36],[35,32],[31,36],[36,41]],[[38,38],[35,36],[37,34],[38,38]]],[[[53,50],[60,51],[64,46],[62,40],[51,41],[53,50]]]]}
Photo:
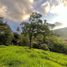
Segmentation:
{"type": "Polygon", "coordinates": [[[3,16],[7,14],[6,17],[13,20],[23,20],[22,16],[25,17],[32,12],[32,3],[33,0],[0,0],[0,13],[3,16]],[[3,9],[3,7],[7,9],[3,9]]]}

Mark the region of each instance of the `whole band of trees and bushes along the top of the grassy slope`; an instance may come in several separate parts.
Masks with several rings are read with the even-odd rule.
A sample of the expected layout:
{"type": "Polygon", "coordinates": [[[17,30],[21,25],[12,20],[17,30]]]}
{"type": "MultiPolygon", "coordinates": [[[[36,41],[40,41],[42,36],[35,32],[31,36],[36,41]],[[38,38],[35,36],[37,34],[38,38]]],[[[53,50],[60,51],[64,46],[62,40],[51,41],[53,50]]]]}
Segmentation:
{"type": "MultiPolygon", "coordinates": [[[[30,48],[67,54],[67,45],[60,37],[53,34],[46,20],[42,19],[41,14],[33,12],[29,21],[22,22],[20,26],[22,33],[14,33],[8,24],[3,23],[3,18],[1,18],[0,45],[29,46],[30,48]]],[[[19,28],[17,30],[19,32],[19,28]]]]}

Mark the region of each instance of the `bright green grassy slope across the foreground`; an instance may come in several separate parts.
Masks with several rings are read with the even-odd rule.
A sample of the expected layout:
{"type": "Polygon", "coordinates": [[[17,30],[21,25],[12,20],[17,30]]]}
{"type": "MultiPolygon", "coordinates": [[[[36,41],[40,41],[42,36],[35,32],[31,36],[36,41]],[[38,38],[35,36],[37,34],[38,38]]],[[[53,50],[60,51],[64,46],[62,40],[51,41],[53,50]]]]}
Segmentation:
{"type": "Polygon", "coordinates": [[[21,46],[0,46],[0,67],[67,67],[67,55],[21,46]]]}

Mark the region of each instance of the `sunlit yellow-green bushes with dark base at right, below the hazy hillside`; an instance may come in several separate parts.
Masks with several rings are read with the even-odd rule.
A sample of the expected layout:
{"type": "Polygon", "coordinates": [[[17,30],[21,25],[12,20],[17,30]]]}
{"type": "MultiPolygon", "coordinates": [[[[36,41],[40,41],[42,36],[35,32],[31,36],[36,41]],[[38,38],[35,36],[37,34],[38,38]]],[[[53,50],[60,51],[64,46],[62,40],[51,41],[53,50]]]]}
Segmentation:
{"type": "Polygon", "coordinates": [[[67,45],[65,45],[64,41],[57,36],[47,36],[45,38],[45,42],[48,44],[48,48],[50,51],[59,52],[59,53],[67,53],[67,45]]]}

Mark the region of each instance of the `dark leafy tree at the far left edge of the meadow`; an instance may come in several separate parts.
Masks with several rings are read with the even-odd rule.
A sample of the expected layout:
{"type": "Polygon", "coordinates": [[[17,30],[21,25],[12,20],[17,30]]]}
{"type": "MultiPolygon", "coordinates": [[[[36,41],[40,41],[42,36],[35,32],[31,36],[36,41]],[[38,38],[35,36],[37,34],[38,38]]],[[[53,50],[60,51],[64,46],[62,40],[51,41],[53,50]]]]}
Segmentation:
{"type": "Polygon", "coordinates": [[[9,45],[12,41],[12,31],[10,27],[3,23],[3,18],[0,18],[0,45],[9,45]]]}

